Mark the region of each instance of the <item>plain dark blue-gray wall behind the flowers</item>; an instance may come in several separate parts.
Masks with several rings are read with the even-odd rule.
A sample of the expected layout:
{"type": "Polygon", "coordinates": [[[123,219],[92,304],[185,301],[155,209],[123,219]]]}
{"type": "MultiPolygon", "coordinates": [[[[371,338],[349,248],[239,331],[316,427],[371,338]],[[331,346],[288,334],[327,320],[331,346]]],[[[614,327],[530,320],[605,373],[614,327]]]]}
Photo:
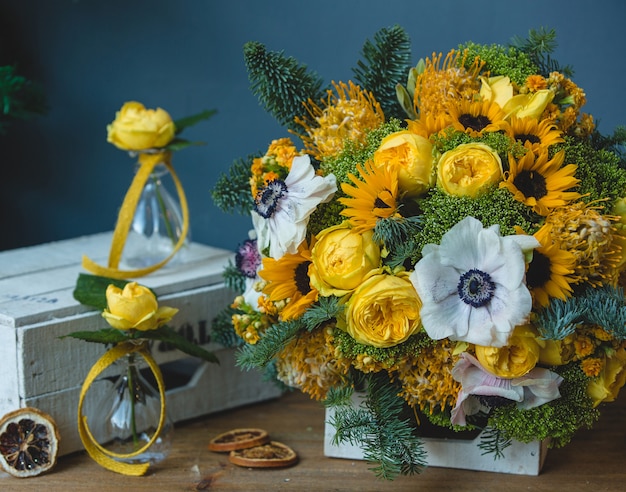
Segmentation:
{"type": "Polygon", "coordinates": [[[174,156],[194,241],[232,249],[249,218],[210,191],[238,157],[287,136],[249,91],[242,47],[284,50],[325,81],[347,81],[366,39],[402,25],[414,62],[459,43],[506,44],[546,26],[574,66],[584,108],[610,133],[626,124],[623,0],[0,0],[0,65],[39,81],[50,111],[0,136],[0,250],[111,230],[133,162],[106,142],[128,100],[174,119],[218,114],[174,156]]]}

